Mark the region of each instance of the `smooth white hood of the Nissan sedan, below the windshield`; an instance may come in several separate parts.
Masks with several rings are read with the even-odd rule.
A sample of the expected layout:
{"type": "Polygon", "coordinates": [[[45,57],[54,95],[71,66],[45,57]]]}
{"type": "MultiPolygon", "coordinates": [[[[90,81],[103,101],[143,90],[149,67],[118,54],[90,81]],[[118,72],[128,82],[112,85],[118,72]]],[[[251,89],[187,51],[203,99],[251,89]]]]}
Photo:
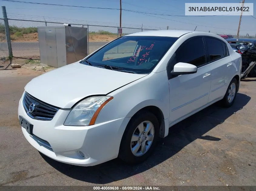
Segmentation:
{"type": "Polygon", "coordinates": [[[25,91],[53,106],[71,108],[85,97],[106,95],[144,76],[76,62],[33,78],[25,91]]]}

